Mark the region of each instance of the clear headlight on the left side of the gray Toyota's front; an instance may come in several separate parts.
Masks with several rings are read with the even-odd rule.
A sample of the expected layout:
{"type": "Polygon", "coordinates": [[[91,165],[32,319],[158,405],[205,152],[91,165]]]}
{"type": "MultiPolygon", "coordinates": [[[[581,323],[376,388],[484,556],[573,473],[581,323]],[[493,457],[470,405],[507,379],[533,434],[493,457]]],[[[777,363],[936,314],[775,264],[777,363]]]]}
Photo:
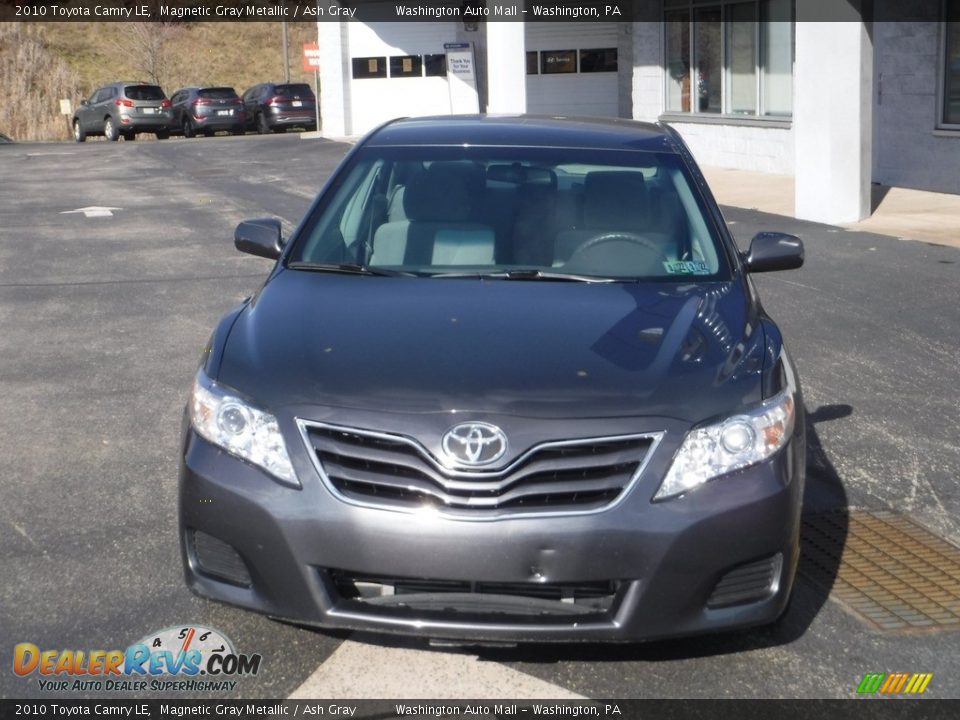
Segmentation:
{"type": "Polygon", "coordinates": [[[277,419],[230,395],[202,370],[190,395],[190,424],[203,439],[300,487],[277,419]]]}

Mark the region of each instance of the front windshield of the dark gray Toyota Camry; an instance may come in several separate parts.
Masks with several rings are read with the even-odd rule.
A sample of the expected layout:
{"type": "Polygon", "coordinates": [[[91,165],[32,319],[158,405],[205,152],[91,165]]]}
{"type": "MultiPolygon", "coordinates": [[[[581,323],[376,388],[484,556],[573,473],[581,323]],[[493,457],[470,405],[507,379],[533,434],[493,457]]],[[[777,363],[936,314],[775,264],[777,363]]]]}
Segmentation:
{"type": "Polygon", "coordinates": [[[586,281],[730,275],[672,153],[367,147],[333,182],[289,267],[586,281]]]}

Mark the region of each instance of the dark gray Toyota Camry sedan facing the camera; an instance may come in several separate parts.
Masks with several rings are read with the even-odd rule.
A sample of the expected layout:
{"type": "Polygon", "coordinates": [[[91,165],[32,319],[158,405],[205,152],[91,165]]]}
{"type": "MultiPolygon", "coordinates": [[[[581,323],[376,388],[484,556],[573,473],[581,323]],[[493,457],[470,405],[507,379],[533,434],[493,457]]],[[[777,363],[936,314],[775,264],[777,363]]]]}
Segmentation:
{"type": "Polygon", "coordinates": [[[344,158],[219,323],[184,419],[196,593],[327,628],[639,641],[786,607],[803,401],[663,125],[405,119],[344,158]]]}

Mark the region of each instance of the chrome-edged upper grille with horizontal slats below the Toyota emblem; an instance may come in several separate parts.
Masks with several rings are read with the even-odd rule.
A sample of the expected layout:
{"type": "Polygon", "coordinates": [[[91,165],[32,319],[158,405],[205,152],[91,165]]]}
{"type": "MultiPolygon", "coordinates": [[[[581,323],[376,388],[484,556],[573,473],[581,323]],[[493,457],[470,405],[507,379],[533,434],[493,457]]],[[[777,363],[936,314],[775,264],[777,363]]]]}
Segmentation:
{"type": "Polygon", "coordinates": [[[301,423],[318,469],[348,501],[457,515],[599,510],[639,476],[657,437],[630,435],[538,445],[499,471],[449,470],[414,440],[301,423]]]}

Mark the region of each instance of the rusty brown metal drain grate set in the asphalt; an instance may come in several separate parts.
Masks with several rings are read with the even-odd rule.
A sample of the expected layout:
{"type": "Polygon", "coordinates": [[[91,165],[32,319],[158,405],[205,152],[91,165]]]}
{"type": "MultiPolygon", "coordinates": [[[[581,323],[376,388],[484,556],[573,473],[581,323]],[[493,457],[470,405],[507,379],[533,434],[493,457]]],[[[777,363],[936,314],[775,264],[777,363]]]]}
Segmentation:
{"type": "Polygon", "coordinates": [[[899,513],[805,516],[800,570],[879,630],[960,629],[960,548],[899,513]]]}

